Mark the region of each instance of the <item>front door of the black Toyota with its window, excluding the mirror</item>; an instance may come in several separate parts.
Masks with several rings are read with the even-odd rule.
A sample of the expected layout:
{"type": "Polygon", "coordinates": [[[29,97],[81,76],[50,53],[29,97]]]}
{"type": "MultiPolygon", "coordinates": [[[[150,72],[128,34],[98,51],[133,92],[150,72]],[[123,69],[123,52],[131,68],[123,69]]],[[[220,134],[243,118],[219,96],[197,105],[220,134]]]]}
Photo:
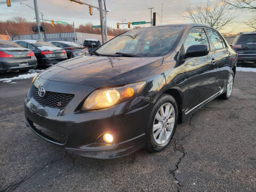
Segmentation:
{"type": "MultiPolygon", "coordinates": [[[[188,32],[183,43],[185,53],[191,45],[207,45],[210,43],[203,28],[193,28],[188,32]]],[[[186,59],[185,74],[187,82],[185,113],[210,98],[216,92],[217,69],[212,63],[212,51],[203,57],[186,59]]]]}

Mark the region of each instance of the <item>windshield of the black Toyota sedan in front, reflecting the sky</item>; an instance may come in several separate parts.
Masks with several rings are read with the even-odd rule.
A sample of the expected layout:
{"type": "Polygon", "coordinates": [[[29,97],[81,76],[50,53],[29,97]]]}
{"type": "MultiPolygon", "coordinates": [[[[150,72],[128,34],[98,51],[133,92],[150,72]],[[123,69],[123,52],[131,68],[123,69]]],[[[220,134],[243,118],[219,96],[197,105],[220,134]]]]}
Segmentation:
{"type": "Polygon", "coordinates": [[[127,53],[140,57],[158,57],[169,53],[182,26],[154,27],[129,31],[103,44],[99,54],[127,53]]]}

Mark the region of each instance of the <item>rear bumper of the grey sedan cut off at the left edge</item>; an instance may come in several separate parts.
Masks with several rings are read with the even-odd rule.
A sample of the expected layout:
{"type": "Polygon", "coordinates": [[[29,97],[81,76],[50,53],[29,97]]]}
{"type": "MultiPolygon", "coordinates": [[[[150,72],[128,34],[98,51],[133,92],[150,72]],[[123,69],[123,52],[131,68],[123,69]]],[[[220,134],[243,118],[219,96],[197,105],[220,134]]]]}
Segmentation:
{"type": "Polygon", "coordinates": [[[37,66],[36,57],[28,59],[11,59],[11,58],[1,58],[0,60],[0,71],[11,71],[19,69],[30,69],[37,66]]]}

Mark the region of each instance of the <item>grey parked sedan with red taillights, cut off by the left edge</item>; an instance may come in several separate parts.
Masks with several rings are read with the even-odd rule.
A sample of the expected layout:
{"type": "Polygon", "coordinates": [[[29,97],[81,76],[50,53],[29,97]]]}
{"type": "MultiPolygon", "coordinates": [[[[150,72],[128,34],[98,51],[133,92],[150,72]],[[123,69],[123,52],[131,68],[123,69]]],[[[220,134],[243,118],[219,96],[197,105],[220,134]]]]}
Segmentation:
{"type": "Polygon", "coordinates": [[[0,71],[26,72],[36,66],[37,60],[33,51],[13,42],[0,40],[0,71]]]}

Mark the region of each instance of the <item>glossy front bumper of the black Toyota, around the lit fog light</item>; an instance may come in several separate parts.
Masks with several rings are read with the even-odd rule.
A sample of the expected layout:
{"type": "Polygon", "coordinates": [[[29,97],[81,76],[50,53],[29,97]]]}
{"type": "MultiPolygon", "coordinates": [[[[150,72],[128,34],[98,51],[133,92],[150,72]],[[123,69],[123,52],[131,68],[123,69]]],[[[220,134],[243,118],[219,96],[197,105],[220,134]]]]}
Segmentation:
{"type": "MultiPolygon", "coordinates": [[[[52,82],[52,84],[60,83],[52,82]]],[[[66,84],[66,86],[74,85],[66,84]]],[[[77,87],[78,90],[85,90],[85,86],[78,86],[81,86],[81,89],[77,87]]],[[[153,103],[149,101],[134,98],[106,110],[74,113],[75,108],[82,101],[78,94],[75,94],[66,108],[60,110],[42,107],[31,96],[31,89],[25,99],[28,126],[39,137],[64,147],[70,154],[109,159],[122,157],[146,146],[146,125],[153,107],[153,103]],[[59,142],[38,131],[34,124],[66,135],[66,140],[59,142]],[[101,136],[106,132],[113,134],[113,143],[100,141],[101,136]]],[[[50,89],[51,87],[47,87],[47,90],[50,89]]],[[[89,88],[88,94],[91,91],[89,88]]]]}

